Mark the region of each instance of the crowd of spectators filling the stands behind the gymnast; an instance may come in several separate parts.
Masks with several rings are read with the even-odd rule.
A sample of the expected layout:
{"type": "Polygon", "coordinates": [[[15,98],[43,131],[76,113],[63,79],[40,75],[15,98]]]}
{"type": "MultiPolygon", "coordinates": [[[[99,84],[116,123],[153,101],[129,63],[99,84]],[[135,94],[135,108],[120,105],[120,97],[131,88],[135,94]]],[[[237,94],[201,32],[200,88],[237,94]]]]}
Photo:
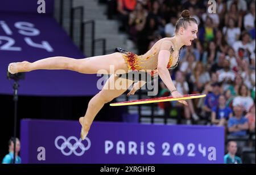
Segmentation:
{"type": "MultiPolygon", "coordinates": [[[[166,108],[184,108],[188,124],[205,120],[224,126],[226,135],[255,134],[255,0],[216,0],[216,13],[198,0],[113,0],[110,6],[109,18],[121,20],[119,30],[137,45],[137,54],[174,36],[180,12],[188,9],[199,24],[198,37],[183,47],[179,67],[170,74],[180,93],[207,97],[166,108]]],[[[159,96],[168,95],[162,82],[160,88],[159,96]]]]}

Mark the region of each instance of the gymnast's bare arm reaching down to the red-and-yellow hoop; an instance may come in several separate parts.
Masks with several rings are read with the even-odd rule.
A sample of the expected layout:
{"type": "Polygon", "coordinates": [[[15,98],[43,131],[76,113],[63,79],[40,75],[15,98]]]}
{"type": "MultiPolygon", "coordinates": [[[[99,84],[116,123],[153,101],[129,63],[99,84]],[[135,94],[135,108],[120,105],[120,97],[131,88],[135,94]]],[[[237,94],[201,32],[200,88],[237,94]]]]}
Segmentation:
{"type": "MultiPolygon", "coordinates": [[[[167,69],[169,58],[171,56],[170,47],[170,42],[165,41],[160,46],[160,52],[158,54],[158,74],[162,79],[163,83],[166,84],[166,87],[171,91],[173,97],[182,97],[182,95],[179,92],[174,91],[176,90],[176,87],[174,86],[170,72],[167,69]]],[[[187,105],[187,103],[184,100],[179,100],[179,103],[187,105]]]]}

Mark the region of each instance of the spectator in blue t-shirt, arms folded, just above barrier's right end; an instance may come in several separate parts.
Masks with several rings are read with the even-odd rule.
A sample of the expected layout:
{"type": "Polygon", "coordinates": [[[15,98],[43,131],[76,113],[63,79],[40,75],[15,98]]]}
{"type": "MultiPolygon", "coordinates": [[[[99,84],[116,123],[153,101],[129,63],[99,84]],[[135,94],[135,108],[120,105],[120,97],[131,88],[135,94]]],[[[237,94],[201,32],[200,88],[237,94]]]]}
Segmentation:
{"type": "Polygon", "coordinates": [[[249,129],[248,119],[243,117],[243,107],[240,105],[234,106],[234,117],[229,118],[228,131],[232,136],[245,136],[249,129]]]}

